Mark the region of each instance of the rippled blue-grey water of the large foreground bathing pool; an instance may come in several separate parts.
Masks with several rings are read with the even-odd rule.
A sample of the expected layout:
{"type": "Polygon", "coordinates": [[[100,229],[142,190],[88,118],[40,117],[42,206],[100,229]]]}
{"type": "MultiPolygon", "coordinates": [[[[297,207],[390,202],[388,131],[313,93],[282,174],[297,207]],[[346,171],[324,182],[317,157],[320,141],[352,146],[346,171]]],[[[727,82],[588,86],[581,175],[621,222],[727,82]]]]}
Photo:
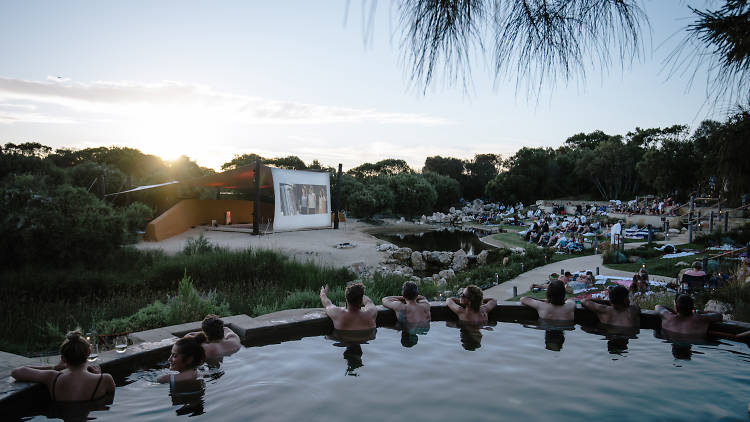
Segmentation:
{"type": "MultiPolygon", "coordinates": [[[[677,347],[652,330],[608,339],[498,322],[480,331],[433,322],[402,338],[378,328],[352,347],[308,337],[243,348],[176,400],[135,372],[103,421],[747,420],[750,351],[719,341],[677,347]],[[404,347],[405,344],[411,347],[404,347]],[[360,355],[361,348],[361,355],[360,355]],[[678,356],[679,358],[675,357],[678,356]]],[[[46,420],[34,416],[31,420],[46,420]]]]}

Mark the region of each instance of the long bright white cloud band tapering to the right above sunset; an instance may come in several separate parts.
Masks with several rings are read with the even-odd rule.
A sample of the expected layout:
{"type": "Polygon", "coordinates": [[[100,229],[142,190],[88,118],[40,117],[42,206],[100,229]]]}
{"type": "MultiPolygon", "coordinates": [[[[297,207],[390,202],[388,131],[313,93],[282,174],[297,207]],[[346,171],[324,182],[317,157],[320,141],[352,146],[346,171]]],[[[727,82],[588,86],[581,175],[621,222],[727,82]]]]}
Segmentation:
{"type": "MultiPolygon", "coordinates": [[[[57,114],[65,116],[58,119],[66,121],[119,117],[136,121],[205,120],[213,124],[376,123],[436,126],[451,123],[445,118],[421,113],[280,101],[219,92],[206,85],[174,81],[152,84],[130,81],[82,83],[54,76],[46,81],[0,78],[0,101],[9,107],[22,108],[23,105],[18,104],[22,102],[30,103],[32,107],[56,108],[57,114]]],[[[12,121],[24,121],[23,116],[28,116],[28,121],[38,121],[31,113],[18,113],[12,121]]]]}

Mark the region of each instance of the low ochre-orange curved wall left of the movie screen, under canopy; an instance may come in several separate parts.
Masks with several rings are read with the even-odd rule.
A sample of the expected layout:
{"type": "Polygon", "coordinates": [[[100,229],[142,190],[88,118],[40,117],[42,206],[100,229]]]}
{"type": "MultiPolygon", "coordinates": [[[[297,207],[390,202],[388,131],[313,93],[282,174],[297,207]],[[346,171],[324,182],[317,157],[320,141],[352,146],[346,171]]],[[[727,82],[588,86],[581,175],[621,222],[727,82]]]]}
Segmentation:
{"type": "MultiPolygon", "coordinates": [[[[253,222],[253,201],[239,199],[184,199],[146,226],[146,240],[159,241],[178,235],[191,227],[211,224],[216,220],[224,224],[226,211],[232,213],[232,223],[253,222]]],[[[261,212],[266,207],[261,208],[261,212]]],[[[271,207],[273,212],[273,207],[271,207]]],[[[269,214],[265,214],[268,216],[269,214]]]]}

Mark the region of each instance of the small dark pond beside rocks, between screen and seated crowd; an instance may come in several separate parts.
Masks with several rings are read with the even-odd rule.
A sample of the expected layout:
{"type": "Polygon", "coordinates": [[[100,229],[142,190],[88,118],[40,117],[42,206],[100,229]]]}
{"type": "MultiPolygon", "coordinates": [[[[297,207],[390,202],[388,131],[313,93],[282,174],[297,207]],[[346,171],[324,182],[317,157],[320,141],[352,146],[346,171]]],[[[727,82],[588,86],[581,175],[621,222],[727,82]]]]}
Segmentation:
{"type": "Polygon", "coordinates": [[[461,230],[444,229],[424,233],[386,233],[374,234],[374,236],[415,251],[455,252],[460,248],[468,255],[476,255],[485,249],[493,249],[492,246],[482,243],[473,232],[461,230]]]}

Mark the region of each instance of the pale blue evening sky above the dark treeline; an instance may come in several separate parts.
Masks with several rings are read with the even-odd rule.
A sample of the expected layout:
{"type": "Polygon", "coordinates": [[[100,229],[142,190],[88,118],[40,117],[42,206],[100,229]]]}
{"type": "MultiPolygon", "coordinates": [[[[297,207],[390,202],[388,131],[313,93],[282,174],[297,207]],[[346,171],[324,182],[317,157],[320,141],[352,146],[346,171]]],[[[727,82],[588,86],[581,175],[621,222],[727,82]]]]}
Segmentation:
{"type": "Polygon", "coordinates": [[[538,96],[472,62],[469,88],[426,92],[403,65],[397,4],[313,1],[0,1],[0,144],[127,146],[219,169],[296,155],[344,169],[384,158],[471,158],[569,136],[687,124],[706,75],[668,77],[688,5],[646,0],[643,54],[538,96]],[[372,19],[369,24],[368,20],[372,19]]]}

